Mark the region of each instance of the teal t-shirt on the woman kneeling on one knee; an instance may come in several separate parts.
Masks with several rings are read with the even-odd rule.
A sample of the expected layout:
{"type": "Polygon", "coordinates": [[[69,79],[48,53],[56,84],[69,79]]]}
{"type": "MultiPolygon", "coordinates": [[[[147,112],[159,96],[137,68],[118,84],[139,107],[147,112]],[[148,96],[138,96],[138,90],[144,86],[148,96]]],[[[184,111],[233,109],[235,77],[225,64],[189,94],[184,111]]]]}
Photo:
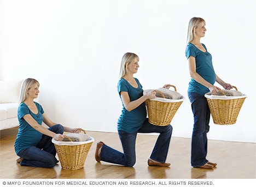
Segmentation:
{"type": "MultiPolygon", "coordinates": [[[[125,79],[120,79],[118,81],[118,93],[121,98],[120,92],[127,92],[130,97],[130,101],[137,100],[143,95],[143,89],[141,83],[135,78],[138,88],[135,88],[130,85],[125,79]]],[[[122,102],[123,103],[123,102],[122,102]]],[[[133,109],[132,111],[127,111],[123,104],[123,110],[121,115],[118,119],[118,130],[123,130],[125,132],[135,132],[141,128],[144,121],[147,118],[147,110],[146,104],[143,102],[137,108],[133,109]]]]}

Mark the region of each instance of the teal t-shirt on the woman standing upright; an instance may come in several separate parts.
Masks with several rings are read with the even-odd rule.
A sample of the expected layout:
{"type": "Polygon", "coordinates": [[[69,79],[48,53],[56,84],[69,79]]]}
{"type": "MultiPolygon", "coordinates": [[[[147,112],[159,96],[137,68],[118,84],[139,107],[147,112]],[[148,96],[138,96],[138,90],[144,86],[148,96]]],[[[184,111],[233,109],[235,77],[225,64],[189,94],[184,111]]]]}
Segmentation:
{"type": "MultiPolygon", "coordinates": [[[[196,73],[201,75],[203,79],[213,85],[216,81],[216,74],[212,65],[212,55],[207,51],[205,45],[202,44],[202,46],[205,47],[206,52],[199,50],[194,44],[188,44],[185,55],[187,58],[190,56],[195,57],[196,73]]],[[[191,78],[188,92],[195,92],[205,95],[205,93],[209,92],[209,89],[191,78]]]]}

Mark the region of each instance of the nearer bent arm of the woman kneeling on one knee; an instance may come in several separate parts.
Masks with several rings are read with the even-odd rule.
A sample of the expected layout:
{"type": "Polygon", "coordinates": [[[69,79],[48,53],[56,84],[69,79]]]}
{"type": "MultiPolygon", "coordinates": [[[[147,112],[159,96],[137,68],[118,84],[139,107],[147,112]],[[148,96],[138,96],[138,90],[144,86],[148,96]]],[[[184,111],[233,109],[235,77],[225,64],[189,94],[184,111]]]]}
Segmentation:
{"type": "Polygon", "coordinates": [[[129,94],[127,92],[120,92],[121,99],[123,101],[123,104],[127,111],[132,111],[133,109],[137,108],[139,105],[141,105],[144,101],[147,99],[153,99],[155,98],[155,91],[152,91],[146,95],[141,96],[139,99],[130,101],[129,94]]]}

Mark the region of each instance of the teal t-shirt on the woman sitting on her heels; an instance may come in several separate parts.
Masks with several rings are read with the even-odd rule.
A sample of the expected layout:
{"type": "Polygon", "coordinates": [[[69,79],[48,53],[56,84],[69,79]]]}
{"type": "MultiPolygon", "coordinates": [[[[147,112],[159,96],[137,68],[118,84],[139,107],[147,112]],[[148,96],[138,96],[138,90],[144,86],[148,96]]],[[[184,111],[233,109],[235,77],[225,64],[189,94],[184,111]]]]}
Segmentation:
{"type": "Polygon", "coordinates": [[[38,124],[42,125],[43,123],[43,107],[34,102],[37,106],[38,113],[33,113],[28,106],[22,102],[18,108],[18,120],[19,120],[19,131],[14,143],[14,149],[16,154],[22,149],[28,147],[37,146],[38,142],[42,138],[42,133],[38,132],[36,129],[32,128],[30,124],[26,122],[23,118],[26,114],[31,114],[31,116],[37,121],[38,124]]]}

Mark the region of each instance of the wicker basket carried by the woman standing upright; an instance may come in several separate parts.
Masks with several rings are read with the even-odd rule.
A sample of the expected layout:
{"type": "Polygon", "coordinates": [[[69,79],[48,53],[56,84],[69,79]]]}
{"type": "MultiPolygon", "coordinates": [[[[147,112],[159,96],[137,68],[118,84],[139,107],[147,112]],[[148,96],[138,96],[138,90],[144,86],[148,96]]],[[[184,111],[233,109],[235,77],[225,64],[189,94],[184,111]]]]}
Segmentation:
{"type": "MultiPolygon", "coordinates": [[[[233,87],[237,91],[237,88],[233,87]]],[[[240,109],[247,96],[245,94],[242,94],[242,96],[226,96],[223,92],[223,96],[205,94],[205,97],[212,114],[213,123],[232,125],[236,123],[240,109]]]]}

